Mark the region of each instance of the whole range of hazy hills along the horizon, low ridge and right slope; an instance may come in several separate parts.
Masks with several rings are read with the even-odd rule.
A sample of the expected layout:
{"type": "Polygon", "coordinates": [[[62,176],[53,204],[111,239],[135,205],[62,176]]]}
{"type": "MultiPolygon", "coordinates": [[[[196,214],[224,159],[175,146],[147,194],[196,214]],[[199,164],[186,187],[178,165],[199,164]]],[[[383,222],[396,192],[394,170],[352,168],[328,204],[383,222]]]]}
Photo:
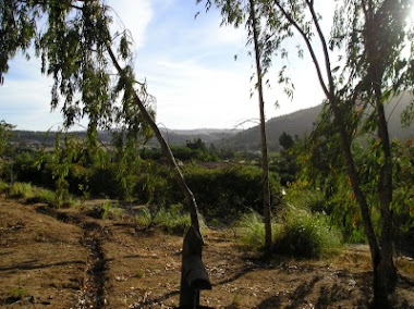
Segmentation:
{"type": "MultiPolygon", "coordinates": [[[[406,139],[414,137],[414,125],[409,128],[401,126],[401,113],[409,106],[412,96],[405,94],[399,98],[391,100],[387,104],[386,113],[389,121],[389,131],[391,138],[406,139]]],[[[279,136],[287,132],[291,136],[297,135],[304,137],[309,135],[318,114],[321,111],[321,106],[301,110],[288,115],[270,119],[267,122],[267,138],[270,150],[279,150],[279,136]]],[[[218,148],[230,148],[238,150],[256,151],[260,149],[259,126],[254,126],[248,129],[215,129],[215,128],[198,128],[198,129],[167,129],[160,128],[163,137],[170,145],[185,145],[186,141],[193,141],[200,138],[206,146],[214,144],[218,148]]],[[[85,132],[76,132],[81,137],[85,137],[85,132]]],[[[45,145],[53,146],[54,132],[28,132],[15,131],[16,140],[28,145],[45,145]]],[[[108,144],[111,141],[111,135],[105,132],[98,134],[101,143],[108,144]]],[[[158,146],[158,143],[153,138],[149,146],[158,146]]]]}

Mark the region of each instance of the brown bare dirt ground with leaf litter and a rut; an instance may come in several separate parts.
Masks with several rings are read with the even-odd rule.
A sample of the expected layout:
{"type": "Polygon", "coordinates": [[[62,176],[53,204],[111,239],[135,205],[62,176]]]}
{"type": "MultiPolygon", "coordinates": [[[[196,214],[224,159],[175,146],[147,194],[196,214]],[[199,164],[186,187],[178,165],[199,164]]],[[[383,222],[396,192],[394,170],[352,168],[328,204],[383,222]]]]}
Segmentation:
{"type": "MultiPolygon", "coordinates": [[[[263,262],[232,231],[208,231],[204,262],[211,308],[366,308],[372,273],[366,246],[329,260],[263,262]]],[[[1,308],[174,308],[182,237],[135,232],[130,218],[98,220],[75,209],[0,200],[1,308]]],[[[414,308],[414,261],[397,261],[397,308],[414,308]]]]}

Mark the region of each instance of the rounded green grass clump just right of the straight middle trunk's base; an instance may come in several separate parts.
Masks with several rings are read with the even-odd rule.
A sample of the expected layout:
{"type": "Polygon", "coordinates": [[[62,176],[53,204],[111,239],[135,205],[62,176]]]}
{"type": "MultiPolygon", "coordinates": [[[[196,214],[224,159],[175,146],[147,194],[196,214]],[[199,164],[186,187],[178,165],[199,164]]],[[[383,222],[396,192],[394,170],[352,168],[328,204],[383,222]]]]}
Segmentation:
{"type": "Polygon", "coordinates": [[[293,258],[321,258],[339,250],[341,234],[326,217],[287,205],[275,238],[275,252],[293,258]]]}

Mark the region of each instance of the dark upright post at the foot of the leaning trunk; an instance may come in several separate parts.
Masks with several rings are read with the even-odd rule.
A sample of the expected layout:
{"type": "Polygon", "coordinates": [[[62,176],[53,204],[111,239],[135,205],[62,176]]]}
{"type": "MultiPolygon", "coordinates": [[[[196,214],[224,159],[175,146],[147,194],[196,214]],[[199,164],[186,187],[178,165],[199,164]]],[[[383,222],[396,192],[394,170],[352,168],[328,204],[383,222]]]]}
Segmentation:
{"type": "Polygon", "coordinates": [[[192,225],[184,236],[181,267],[180,308],[199,308],[199,291],[211,289],[211,284],[202,261],[204,242],[192,225]]]}

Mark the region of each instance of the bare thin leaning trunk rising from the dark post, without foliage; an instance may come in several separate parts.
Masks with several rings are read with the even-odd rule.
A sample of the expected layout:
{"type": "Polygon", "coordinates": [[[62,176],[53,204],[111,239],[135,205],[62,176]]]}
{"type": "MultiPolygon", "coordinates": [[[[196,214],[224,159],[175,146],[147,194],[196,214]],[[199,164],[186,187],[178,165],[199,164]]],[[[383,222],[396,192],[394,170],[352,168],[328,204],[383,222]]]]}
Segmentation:
{"type": "MultiPolygon", "coordinates": [[[[118,63],[117,58],[115,58],[111,47],[107,46],[107,49],[108,49],[109,55],[113,62],[113,65],[117,67],[118,73],[122,74],[123,70],[120,66],[120,64],[118,63]]],[[[162,137],[161,132],[159,131],[157,124],[155,123],[155,121],[153,120],[153,118],[150,116],[148,111],[146,110],[143,101],[139,99],[139,97],[136,95],[136,92],[134,92],[134,100],[135,100],[135,103],[137,104],[137,107],[139,109],[139,112],[142,113],[144,120],[151,127],[154,134],[156,135],[158,143],[161,146],[161,150],[162,150],[162,152],[163,152],[163,154],[168,161],[168,164],[172,169],[172,171],[174,173],[175,181],[176,181],[176,183],[178,183],[178,185],[179,185],[179,187],[180,187],[180,189],[181,189],[182,194],[184,195],[185,200],[187,202],[187,206],[190,209],[190,215],[191,215],[191,223],[196,228],[196,231],[198,231],[198,233],[199,233],[200,231],[199,231],[199,222],[198,222],[198,207],[197,207],[197,203],[195,201],[194,195],[191,191],[191,189],[188,188],[188,186],[186,185],[184,176],[180,170],[180,166],[176,164],[175,158],[172,154],[170,147],[168,146],[166,139],[162,137]]]]}

